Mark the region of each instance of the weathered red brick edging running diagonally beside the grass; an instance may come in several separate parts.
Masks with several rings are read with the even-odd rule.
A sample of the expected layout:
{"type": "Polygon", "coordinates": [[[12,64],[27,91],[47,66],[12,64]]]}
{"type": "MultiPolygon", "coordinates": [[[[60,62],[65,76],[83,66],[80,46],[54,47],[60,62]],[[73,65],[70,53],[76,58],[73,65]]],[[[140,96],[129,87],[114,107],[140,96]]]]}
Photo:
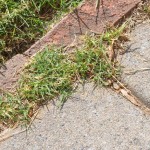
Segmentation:
{"type": "Polygon", "coordinates": [[[103,0],[96,11],[96,0],[83,2],[74,12],[63,18],[51,31],[38,40],[24,54],[18,54],[0,69],[0,88],[11,91],[21,68],[31,56],[49,44],[69,45],[75,36],[85,32],[102,33],[106,25],[115,25],[133,10],[141,0],[103,0]]]}

